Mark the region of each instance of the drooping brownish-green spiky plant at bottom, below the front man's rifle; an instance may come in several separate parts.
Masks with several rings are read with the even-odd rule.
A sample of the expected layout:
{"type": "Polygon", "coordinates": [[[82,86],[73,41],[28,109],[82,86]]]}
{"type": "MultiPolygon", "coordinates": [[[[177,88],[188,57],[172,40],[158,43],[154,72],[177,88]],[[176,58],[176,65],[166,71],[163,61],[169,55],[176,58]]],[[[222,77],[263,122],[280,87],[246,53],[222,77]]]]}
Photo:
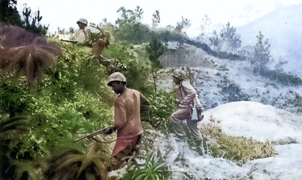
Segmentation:
{"type": "Polygon", "coordinates": [[[110,157],[102,153],[101,143],[94,142],[87,154],[70,150],[51,160],[46,179],[108,179],[110,157]]]}

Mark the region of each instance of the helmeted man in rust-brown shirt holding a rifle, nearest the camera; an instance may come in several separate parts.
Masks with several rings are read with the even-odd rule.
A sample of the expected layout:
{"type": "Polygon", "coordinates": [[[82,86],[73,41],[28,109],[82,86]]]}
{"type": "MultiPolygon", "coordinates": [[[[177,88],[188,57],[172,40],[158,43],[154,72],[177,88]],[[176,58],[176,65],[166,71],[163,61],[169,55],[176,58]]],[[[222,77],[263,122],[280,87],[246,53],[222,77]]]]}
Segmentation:
{"type": "Polygon", "coordinates": [[[113,73],[107,85],[119,96],[114,103],[114,124],[105,134],[117,130],[117,141],[111,156],[113,169],[123,164],[125,157],[139,153],[143,128],[141,120],[149,120],[151,105],[149,101],[135,89],[127,88],[126,78],[122,73],[113,73]]]}

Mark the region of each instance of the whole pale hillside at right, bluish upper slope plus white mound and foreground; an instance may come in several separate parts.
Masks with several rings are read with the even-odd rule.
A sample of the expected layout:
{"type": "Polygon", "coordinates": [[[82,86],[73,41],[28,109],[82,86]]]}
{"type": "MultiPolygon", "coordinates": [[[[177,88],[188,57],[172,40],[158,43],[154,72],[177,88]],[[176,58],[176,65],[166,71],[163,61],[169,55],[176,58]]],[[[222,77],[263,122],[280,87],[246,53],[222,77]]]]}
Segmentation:
{"type": "MultiPolygon", "coordinates": [[[[301,179],[302,84],[286,85],[253,76],[249,61],[218,59],[204,52],[194,54],[192,52],[202,50],[187,44],[183,48],[169,51],[160,59],[166,62],[169,53],[178,57],[181,52],[190,52],[181,55],[193,59],[184,60],[185,65],[204,62],[205,57],[209,60],[207,65],[190,68],[195,78],[193,85],[205,106],[205,118],[199,127],[214,124],[229,136],[274,142],[276,154],[271,158],[248,161],[240,167],[210,154],[199,156],[188,148],[188,144],[158,133],[155,148],[164,155],[167,153],[169,158],[165,163],[173,172],[173,179],[301,179]],[[168,151],[167,147],[172,150],[168,151]],[[180,152],[184,152],[181,162],[178,160],[180,152]]],[[[170,76],[174,69],[159,71],[161,80],[158,83],[166,91],[175,87],[170,76]]]]}

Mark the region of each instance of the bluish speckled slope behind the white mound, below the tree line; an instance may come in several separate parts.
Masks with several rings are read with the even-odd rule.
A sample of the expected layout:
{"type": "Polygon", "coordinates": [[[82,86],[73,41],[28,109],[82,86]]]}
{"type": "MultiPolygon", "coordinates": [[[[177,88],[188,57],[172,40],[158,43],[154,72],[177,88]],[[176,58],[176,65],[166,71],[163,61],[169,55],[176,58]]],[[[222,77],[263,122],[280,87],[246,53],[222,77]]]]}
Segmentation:
{"type": "MultiPolygon", "coordinates": [[[[227,102],[248,100],[302,115],[302,84],[286,85],[261,76],[253,76],[248,60],[232,61],[215,58],[207,55],[203,50],[187,44],[184,45],[184,48],[186,52],[190,52],[182,54],[185,57],[184,62],[188,62],[185,65],[192,67],[191,72],[195,77],[193,85],[197,88],[205,109],[227,102]],[[189,59],[193,60],[189,61],[189,59]],[[204,62],[207,62],[207,65],[202,65],[204,62]],[[199,66],[193,66],[196,63],[199,63],[199,66]]],[[[182,51],[168,51],[160,57],[161,62],[165,63],[165,57],[168,57],[169,53],[181,55],[182,51]]],[[[182,64],[176,63],[176,65],[181,66],[182,64]]],[[[162,81],[159,83],[163,88],[171,87],[172,80],[166,78],[168,77],[166,72],[171,72],[171,69],[166,68],[160,71],[162,81]]]]}

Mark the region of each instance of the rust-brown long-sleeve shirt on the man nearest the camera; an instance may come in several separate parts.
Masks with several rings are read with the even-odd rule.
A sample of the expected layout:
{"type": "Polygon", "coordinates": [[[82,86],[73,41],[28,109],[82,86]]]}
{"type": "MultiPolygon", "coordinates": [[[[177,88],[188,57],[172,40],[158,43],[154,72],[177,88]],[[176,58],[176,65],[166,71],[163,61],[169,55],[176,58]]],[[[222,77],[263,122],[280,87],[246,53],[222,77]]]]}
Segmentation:
{"type": "Polygon", "coordinates": [[[123,93],[114,103],[114,125],[117,138],[133,138],[143,133],[141,125],[141,102],[145,103],[142,114],[146,116],[150,110],[148,100],[135,89],[124,88],[123,93]]]}

